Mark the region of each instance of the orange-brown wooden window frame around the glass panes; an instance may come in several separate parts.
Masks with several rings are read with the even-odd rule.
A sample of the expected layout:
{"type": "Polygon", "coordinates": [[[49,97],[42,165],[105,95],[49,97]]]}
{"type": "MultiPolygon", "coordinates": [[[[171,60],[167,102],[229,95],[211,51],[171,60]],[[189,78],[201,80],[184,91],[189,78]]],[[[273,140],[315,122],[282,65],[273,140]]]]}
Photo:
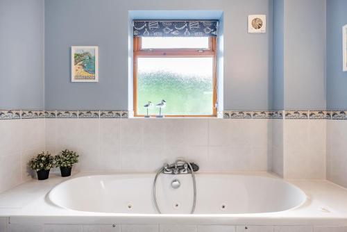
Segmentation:
{"type": "MultiPolygon", "coordinates": [[[[209,37],[208,49],[142,49],[142,38],[133,38],[133,109],[134,117],[144,117],[137,113],[137,58],[160,57],[212,57],[212,115],[165,115],[165,117],[217,117],[217,37],[209,37]]],[[[155,115],[150,115],[155,117],[155,115]]]]}

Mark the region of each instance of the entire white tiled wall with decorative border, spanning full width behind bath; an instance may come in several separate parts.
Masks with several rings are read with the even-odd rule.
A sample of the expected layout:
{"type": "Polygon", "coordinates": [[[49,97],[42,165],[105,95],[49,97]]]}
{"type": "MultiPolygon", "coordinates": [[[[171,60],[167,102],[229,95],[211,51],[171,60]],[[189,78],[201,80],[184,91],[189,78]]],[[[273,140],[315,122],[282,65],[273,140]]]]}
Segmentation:
{"type": "Polygon", "coordinates": [[[223,118],[0,110],[0,129],[6,131],[0,141],[0,172],[10,176],[0,180],[0,192],[30,179],[33,172],[26,163],[44,149],[52,154],[78,151],[78,170],[153,172],[184,157],[205,172],[273,171],[286,179],[325,179],[326,166],[328,179],[346,186],[341,163],[347,121],[325,120],[347,119],[345,111],[227,110],[223,118]]]}

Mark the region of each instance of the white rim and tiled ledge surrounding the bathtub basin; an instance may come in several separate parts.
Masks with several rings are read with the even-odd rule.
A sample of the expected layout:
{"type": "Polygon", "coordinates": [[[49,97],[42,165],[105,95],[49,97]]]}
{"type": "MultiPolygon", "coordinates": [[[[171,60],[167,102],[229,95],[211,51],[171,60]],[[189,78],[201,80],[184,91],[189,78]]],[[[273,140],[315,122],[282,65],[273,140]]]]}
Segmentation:
{"type": "MultiPolygon", "coordinates": [[[[74,172],[71,177],[94,174],[123,174],[125,172],[74,172]]],[[[127,174],[133,172],[127,172],[127,174]]],[[[142,172],[148,173],[148,172],[142,172]]],[[[231,172],[233,174],[280,176],[269,172],[231,172]]],[[[136,173],[138,174],[138,173],[136,173]]],[[[220,174],[220,173],[217,173],[220,174]]],[[[69,179],[71,177],[67,177],[69,179]]],[[[64,179],[64,180],[66,180],[64,179]]],[[[291,180],[289,183],[301,188],[307,195],[307,205],[296,210],[259,215],[116,215],[110,213],[87,213],[65,210],[46,203],[44,197],[58,183],[62,182],[58,172],[52,172],[50,179],[35,179],[18,185],[0,194],[0,217],[8,217],[14,224],[224,224],[224,225],[315,225],[347,226],[347,189],[328,180],[291,180]],[[35,192],[28,192],[40,186],[35,192]],[[13,194],[14,193],[14,194],[13,194]],[[33,195],[34,194],[34,195],[33,195]],[[28,201],[17,202],[19,198],[28,201]],[[1,204],[7,199],[6,204],[1,204]],[[330,213],[322,213],[320,207],[328,206],[330,213]]]]}

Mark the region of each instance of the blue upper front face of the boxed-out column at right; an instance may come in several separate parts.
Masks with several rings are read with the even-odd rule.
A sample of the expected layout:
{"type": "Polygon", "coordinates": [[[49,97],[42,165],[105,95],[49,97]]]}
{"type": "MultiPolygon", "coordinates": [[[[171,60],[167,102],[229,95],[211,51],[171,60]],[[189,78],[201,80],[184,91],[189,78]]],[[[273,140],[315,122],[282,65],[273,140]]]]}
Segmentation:
{"type": "Polygon", "coordinates": [[[285,0],[285,109],[325,109],[325,0],[285,0]]]}

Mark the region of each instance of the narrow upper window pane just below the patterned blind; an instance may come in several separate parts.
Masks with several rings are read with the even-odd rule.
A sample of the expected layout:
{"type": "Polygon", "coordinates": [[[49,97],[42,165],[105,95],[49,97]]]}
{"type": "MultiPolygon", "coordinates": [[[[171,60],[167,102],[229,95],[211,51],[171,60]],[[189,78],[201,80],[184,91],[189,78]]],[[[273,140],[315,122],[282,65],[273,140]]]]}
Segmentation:
{"type": "Polygon", "coordinates": [[[142,49],[208,49],[208,37],[142,37],[142,49]]]}

